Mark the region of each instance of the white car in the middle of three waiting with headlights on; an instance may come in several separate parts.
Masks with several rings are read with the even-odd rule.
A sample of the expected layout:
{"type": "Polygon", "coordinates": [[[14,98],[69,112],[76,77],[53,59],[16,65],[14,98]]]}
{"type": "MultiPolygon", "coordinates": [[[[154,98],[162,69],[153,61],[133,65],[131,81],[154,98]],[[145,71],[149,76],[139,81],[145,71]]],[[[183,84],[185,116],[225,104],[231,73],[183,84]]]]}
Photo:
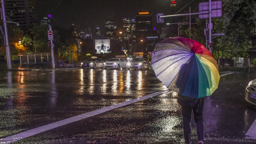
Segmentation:
{"type": "Polygon", "coordinates": [[[104,63],[105,69],[107,69],[107,68],[120,69],[120,68],[126,68],[126,67],[127,67],[126,61],[121,58],[111,58],[104,63]]]}

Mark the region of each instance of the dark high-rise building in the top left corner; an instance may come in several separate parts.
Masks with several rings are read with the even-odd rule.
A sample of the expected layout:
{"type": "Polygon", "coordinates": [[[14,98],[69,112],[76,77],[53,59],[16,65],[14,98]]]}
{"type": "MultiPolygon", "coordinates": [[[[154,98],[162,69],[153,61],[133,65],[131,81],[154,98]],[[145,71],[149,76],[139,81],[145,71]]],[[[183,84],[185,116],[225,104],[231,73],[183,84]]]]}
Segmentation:
{"type": "Polygon", "coordinates": [[[20,28],[27,28],[35,22],[35,0],[5,0],[5,4],[6,16],[18,22],[20,28]]]}

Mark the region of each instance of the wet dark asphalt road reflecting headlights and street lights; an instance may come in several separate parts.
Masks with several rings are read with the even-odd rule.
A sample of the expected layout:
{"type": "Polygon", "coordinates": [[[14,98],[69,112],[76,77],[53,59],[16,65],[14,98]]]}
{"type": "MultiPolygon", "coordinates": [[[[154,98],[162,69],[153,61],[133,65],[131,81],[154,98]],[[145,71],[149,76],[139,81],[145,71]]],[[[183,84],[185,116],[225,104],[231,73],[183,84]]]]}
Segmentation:
{"type": "MultiPolygon", "coordinates": [[[[256,111],[243,100],[254,78],[255,73],[223,76],[219,89],[206,99],[209,143],[256,142],[245,139],[256,111]]],[[[164,89],[152,70],[2,71],[0,138],[164,89]]],[[[15,143],[182,143],[182,138],[180,106],[170,91],[15,143]]]]}

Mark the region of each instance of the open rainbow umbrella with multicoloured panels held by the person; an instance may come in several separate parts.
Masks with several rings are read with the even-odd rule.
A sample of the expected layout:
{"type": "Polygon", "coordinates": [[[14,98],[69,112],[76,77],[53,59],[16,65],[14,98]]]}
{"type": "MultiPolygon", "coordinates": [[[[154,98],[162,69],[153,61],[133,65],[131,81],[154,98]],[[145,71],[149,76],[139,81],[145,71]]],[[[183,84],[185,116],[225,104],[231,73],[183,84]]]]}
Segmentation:
{"type": "Polygon", "coordinates": [[[204,98],[219,86],[219,70],[210,51],[183,37],[167,38],[152,52],[152,68],[163,84],[182,96],[204,98]]]}

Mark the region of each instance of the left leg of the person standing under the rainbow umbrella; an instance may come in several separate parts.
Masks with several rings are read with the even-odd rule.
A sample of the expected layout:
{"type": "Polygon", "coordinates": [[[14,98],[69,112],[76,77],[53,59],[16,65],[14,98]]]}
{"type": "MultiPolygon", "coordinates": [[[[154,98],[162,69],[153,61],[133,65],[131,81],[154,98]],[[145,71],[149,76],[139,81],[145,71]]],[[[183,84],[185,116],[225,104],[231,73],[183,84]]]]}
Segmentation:
{"type": "Polygon", "coordinates": [[[191,111],[192,107],[182,105],[183,132],[186,144],[191,144],[191,111]]]}

